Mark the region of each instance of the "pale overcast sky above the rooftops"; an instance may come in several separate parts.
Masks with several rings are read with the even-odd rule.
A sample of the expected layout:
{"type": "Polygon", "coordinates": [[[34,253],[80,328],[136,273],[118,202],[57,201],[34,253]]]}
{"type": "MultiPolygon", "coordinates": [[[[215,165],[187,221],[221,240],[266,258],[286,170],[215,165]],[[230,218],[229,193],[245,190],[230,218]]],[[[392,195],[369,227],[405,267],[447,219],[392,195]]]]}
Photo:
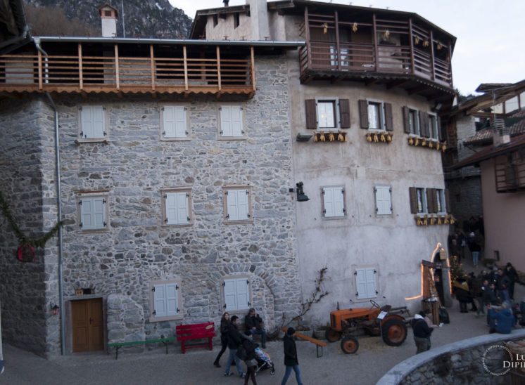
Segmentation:
{"type": "MultiPolygon", "coordinates": [[[[476,94],[481,83],[525,79],[525,1],[523,0],[317,0],[415,12],[456,37],[452,57],[455,88],[476,94]]],[[[190,18],[198,9],[220,8],[222,0],[170,0],[190,18]]],[[[230,0],[230,6],[246,0],[230,0]]]]}

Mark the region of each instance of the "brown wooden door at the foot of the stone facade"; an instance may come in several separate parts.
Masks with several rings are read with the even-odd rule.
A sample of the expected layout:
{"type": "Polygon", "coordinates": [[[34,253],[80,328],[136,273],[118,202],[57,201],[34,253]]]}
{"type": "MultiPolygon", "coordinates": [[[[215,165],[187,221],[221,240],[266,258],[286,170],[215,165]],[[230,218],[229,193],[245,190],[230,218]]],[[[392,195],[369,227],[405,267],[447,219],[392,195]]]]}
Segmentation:
{"type": "Polygon", "coordinates": [[[101,298],[71,302],[73,352],[103,350],[102,316],[101,298]]]}

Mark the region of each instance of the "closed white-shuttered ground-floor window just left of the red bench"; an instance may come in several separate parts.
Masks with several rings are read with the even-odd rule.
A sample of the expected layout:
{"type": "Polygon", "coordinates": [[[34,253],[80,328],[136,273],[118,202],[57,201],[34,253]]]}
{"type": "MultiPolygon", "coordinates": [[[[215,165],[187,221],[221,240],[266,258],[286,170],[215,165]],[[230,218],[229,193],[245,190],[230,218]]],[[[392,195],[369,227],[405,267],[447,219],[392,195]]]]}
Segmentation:
{"type": "Polygon", "coordinates": [[[150,285],[150,322],[182,318],[178,280],[155,281],[150,285]]]}

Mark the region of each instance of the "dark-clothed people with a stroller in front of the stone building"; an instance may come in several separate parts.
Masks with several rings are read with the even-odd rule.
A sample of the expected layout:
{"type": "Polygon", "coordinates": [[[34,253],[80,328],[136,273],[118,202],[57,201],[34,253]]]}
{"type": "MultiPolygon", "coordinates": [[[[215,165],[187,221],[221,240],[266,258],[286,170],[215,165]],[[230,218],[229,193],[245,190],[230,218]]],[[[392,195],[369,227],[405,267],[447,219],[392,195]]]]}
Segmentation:
{"type": "MultiPolygon", "coordinates": [[[[257,372],[258,365],[256,351],[258,344],[255,344],[253,341],[253,334],[261,335],[261,345],[264,349],[266,348],[266,330],[264,329],[263,319],[260,318],[260,315],[257,314],[254,308],[251,308],[244,318],[244,327],[245,332],[241,334],[241,332],[239,332],[239,317],[232,315],[232,318],[230,318],[229,313],[222,315],[220,320],[220,340],[222,347],[213,365],[220,367],[219,360],[224,351],[226,351],[226,348],[229,348],[224,376],[233,375],[229,369],[232,366],[232,362],[234,362],[239,376],[244,379],[244,385],[248,384],[248,379],[251,379],[252,384],[256,385],[255,373],[257,372]],[[241,360],[246,364],[246,372],[242,370],[241,360]]],[[[282,379],[282,385],[286,384],[292,370],[296,373],[297,384],[303,385],[297,360],[296,342],[293,340],[295,332],[293,327],[289,327],[283,339],[284,365],[286,366],[286,371],[282,379]]]]}

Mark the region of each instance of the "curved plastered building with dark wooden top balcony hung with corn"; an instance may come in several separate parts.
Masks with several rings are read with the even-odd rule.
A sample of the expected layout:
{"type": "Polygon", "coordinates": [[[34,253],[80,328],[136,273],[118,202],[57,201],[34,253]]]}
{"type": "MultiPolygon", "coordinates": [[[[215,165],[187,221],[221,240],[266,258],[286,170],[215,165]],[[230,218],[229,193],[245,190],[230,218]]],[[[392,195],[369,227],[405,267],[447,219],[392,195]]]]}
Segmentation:
{"type": "Polygon", "coordinates": [[[415,13],[303,0],[196,13],[192,39],[224,36],[305,41],[286,56],[293,179],[310,198],[296,203],[297,255],[303,300],[324,267],[329,292],[306,321],[370,299],[419,310],[422,260],[454,221],[439,115],[455,37],[415,13]]]}

